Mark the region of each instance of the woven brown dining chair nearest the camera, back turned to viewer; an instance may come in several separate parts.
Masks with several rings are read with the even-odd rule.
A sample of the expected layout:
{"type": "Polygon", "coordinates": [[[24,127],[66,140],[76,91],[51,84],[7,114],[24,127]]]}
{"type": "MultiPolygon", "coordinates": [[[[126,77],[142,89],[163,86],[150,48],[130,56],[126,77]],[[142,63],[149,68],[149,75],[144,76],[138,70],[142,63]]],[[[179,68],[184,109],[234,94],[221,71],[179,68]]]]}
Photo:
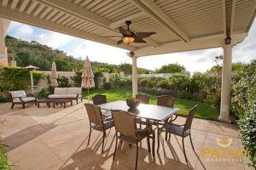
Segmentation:
{"type": "Polygon", "coordinates": [[[137,148],[136,148],[135,169],[137,169],[138,143],[141,140],[143,140],[144,138],[147,138],[148,152],[151,152],[149,138],[153,139],[152,152],[154,156],[154,140],[155,140],[154,130],[152,129],[152,127],[145,127],[143,129],[137,128],[136,116],[132,115],[129,112],[119,111],[119,110],[113,110],[111,112],[113,115],[113,122],[116,130],[115,132],[116,141],[115,141],[115,148],[113,153],[113,160],[116,155],[118,139],[129,144],[136,144],[137,148]]]}

